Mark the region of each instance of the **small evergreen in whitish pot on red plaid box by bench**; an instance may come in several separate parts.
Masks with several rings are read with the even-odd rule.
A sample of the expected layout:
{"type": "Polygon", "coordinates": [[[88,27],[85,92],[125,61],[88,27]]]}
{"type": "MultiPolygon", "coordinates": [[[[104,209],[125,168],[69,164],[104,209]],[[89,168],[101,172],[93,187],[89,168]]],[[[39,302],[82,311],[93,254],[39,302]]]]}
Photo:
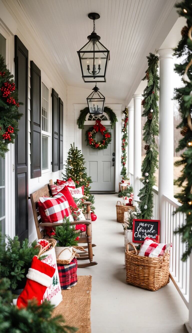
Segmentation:
{"type": "Polygon", "coordinates": [[[70,223],[69,217],[65,216],[63,224],[55,228],[54,238],[57,240],[55,252],[59,260],[69,260],[73,254],[73,246],[78,245],[80,231],[75,230],[75,226],[70,223]]]}

